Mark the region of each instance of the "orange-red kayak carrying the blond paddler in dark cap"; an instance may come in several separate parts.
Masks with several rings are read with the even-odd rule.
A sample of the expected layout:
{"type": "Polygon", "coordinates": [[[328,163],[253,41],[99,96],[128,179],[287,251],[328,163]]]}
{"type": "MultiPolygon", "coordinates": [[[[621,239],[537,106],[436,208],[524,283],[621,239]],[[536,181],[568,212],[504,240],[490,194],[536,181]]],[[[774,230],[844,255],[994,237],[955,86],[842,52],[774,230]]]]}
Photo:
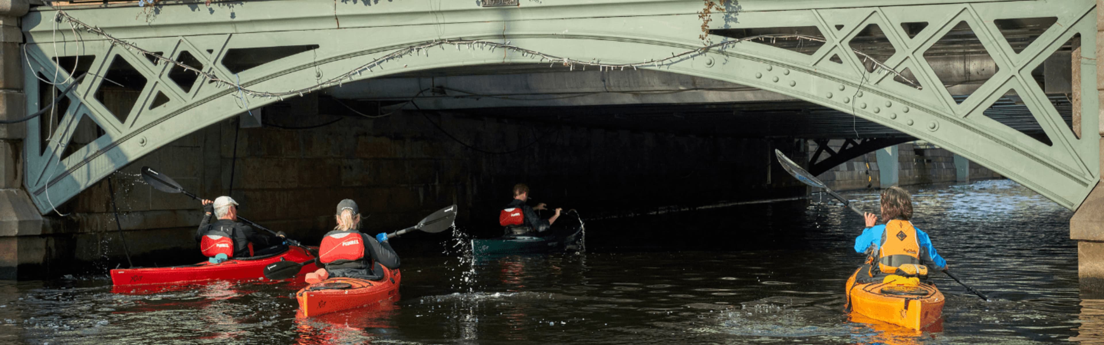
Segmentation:
{"type": "Polygon", "coordinates": [[[386,268],[383,271],[383,279],[378,281],[336,276],[302,288],[295,293],[299,300],[299,316],[317,316],[399,300],[402,273],[386,268]]]}

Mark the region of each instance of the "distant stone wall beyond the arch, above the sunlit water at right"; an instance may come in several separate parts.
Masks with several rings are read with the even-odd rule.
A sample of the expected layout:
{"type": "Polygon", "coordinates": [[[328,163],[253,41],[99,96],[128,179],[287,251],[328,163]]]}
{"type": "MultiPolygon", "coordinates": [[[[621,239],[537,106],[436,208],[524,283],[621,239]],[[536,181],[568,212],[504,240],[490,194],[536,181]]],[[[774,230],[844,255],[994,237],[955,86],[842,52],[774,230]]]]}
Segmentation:
{"type": "MultiPolygon", "coordinates": [[[[838,144],[837,144],[838,145],[838,144]]],[[[836,147],[838,148],[838,146],[836,147]]],[[[956,180],[954,154],[927,145],[913,143],[898,145],[900,186],[954,182],[956,180]]],[[[969,178],[1001,178],[999,174],[976,163],[969,163],[969,178]]],[[[878,155],[869,153],[817,176],[834,190],[880,188],[878,155]]]]}

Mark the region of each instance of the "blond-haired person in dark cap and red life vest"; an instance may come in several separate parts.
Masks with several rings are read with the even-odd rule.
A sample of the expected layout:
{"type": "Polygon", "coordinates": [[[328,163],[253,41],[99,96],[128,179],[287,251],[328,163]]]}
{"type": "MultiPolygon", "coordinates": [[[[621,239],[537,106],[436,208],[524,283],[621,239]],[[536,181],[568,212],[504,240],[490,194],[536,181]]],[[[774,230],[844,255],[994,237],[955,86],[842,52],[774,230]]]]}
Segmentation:
{"type": "Polygon", "coordinates": [[[307,273],[307,283],[317,283],[330,276],[380,280],[383,279],[384,266],[391,270],[399,268],[399,254],[391,249],[388,233],[380,232],[372,238],[360,232],[357,202],[341,200],[336,218],[338,226],[322,237],[322,244],[318,248],[318,261],[326,268],[307,273]]]}

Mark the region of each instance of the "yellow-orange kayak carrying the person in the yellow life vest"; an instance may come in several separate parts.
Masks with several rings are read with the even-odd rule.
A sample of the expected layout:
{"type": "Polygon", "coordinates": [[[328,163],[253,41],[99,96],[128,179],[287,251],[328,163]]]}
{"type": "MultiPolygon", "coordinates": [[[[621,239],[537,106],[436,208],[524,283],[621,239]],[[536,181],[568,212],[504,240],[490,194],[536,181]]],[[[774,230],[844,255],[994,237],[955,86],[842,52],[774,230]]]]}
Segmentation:
{"type": "MultiPolygon", "coordinates": [[[[851,315],[921,330],[943,316],[943,293],[934,284],[896,285],[873,282],[856,283],[859,271],[847,280],[847,299],[851,315]]],[[[859,317],[852,317],[859,318],[859,317]]]]}

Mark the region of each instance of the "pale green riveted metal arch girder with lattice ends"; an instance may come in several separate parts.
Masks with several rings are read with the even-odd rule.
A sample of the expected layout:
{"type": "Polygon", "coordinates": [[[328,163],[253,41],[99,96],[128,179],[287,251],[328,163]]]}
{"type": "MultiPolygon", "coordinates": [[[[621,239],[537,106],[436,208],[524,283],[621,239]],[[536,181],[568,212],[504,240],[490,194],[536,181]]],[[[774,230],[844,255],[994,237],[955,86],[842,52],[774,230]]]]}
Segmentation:
{"type": "MultiPolygon", "coordinates": [[[[246,88],[279,92],[307,87],[318,83],[319,75],[322,80],[340,75],[368,60],[397,49],[440,39],[509,41],[520,48],[556,56],[601,60],[609,64],[657,60],[701,48],[701,41],[697,40],[701,22],[696,14],[691,14],[699,10],[697,7],[700,3],[640,2],[648,4],[644,10],[647,15],[611,15],[615,13],[612,12],[615,11],[614,8],[624,7],[608,7],[607,3],[592,6],[591,11],[584,11],[585,14],[566,19],[512,20],[505,15],[524,14],[524,11],[529,11],[522,8],[513,9],[512,12],[496,11],[493,13],[503,15],[492,21],[453,19],[425,24],[397,25],[399,22],[394,22],[392,25],[374,27],[361,23],[361,27],[342,29],[310,24],[310,20],[321,21],[318,18],[323,17],[310,17],[308,14],[312,12],[308,9],[304,11],[307,13],[304,14],[304,28],[307,29],[304,30],[277,30],[280,27],[276,23],[268,23],[270,25],[266,27],[261,22],[248,27],[248,30],[233,29],[234,32],[231,29],[217,32],[217,28],[225,27],[220,24],[225,24],[227,20],[172,12],[171,8],[162,9],[158,20],[177,25],[172,28],[179,28],[181,22],[216,28],[195,35],[164,34],[168,29],[157,28],[156,22],[151,24],[153,29],[148,30],[149,33],[145,35],[142,32],[146,31],[130,27],[113,27],[112,19],[124,15],[126,9],[123,8],[73,10],[68,13],[103,28],[108,34],[113,33],[113,28],[117,28],[121,39],[151,52],[164,52],[166,56],[176,58],[181,51],[189,51],[203,65],[204,71],[224,80],[240,80],[246,88]],[[236,74],[219,63],[232,49],[310,44],[317,44],[318,48],[236,74]]],[[[737,22],[726,19],[724,14],[715,14],[712,23],[715,28],[806,27],[815,23],[825,34],[825,44],[807,55],[775,48],[769,42],[741,42],[723,50],[709,50],[646,69],[754,86],[853,113],[937,144],[1008,176],[1066,208],[1076,208],[1100,180],[1098,136],[1092,130],[1098,125],[1097,118],[1082,118],[1082,128],[1090,130],[1084,130],[1086,133],[1080,139],[1073,136],[1069,128],[1063,128],[1064,123],[1054,107],[1044,101],[1047,97],[1043,91],[1037,83],[1030,82],[1030,72],[1066,40],[1080,33],[1083,69],[1080,84],[1074,87],[1085,91],[1082,93],[1081,113],[1097,114],[1095,65],[1092,63],[1095,61],[1095,1],[1071,0],[1061,8],[1043,1],[965,2],[836,9],[771,9],[751,2],[735,14],[739,17],[737,22]],[[996,19],[1040,15],[1055,17],[1058,24],[1020,53],[1012,51],[991,24],[996,19]],[[901,29],[901,23],[915,21],[926,21],[928,25],[910,39],[901,29]],[[965,102],[957,104],[946,88],[941,86],[938,76],[932,72],[923,53],[960,21],[966,21],[974,28],[1000,70],[965,102]],[[895,53],[883,62],[884,65],[898,72],[910,69],[926,87],[916,90],[893,81],[894,74],[884,70],[867,72],[863,61],[850,53],[849,42],[870,23],[879,24],[895,49],[895,53]],[[841,28],[836,29],[836,25],[841,28]],[[832,62],[830,58],[834,55],[840,56],[841,62],[832,62]],[[1008,90],[1016,90],[1023,98],[1032,115],[1052,138],[1052,146],[981,115],[989,104],[1008,90]]],[[[250,10],[285,13],[287,9],[279,7],[286,6],[286,2],[256,2],[250,3],[250,10]]],[[[534,8],[532,13],[549,13],[541,11],[542,6],[534,8]]],[[[130,10],[126,13],[132,12],[130,10]]],[[[371,9],[349,8],[342,11],[348,11],[353,17],[371,9]]],[[[578,11],[582,10],[571,13],[583,13],[578,11]]],[[[104,83],[104,79],[99,77],[103,74],[96,73],[99,76],[84,79],[70,93],[78,102],[66,109],[57,129],[51,135],[53,140],[45,148],[40,147],[41,122],[32,121],[28,124],[24,181],[42,212],[49,211],[51,203],[64,202],[164,144],[235,116],[250,107],[277,101],[242,95],[235,88],[215,87],[215,84],[206,83],[202,77],[193,83],[191,90],[185,91],[169,77],[171,69],[168,64],[155,64],[134,51],[112,45],[98,36],[92,38],[91,33],[74,36],[66,30],[57,31],[59,50],[55,53],[55,42],[51,41],[53,24],[50,22],[54,14],[52,11],[32,12],[28,15],[30,20],[24,19],[28,23],[24,31],[30,38],[28,55],[32,66],[24,73],[26,94],[32,100],[28,102],[28,112],[40,108],[41,105],[33,101],[39,100],[39,93],[45,91],[39,90],[38,73],[61,83],[60,88],[66,86],[67,74],[65,71],[55,71],[51,63],[51,59],[55,56],[93,55],[95,60],[89,71],[105,73],[118,56],[145,77],[147,83],[136,95],[137,101],[131,111],[125,116],[117,116],[95,97],[99,85],[104,83]],[[166,95],[169,101],[150,107],[158,93],[166,95]],[[248,106],[243,106],[246,103],[248,106]],[[60,159],[60,153],[66,146],[60,143],[68,143],[74,125],[84,116],[104,128],[105,134],[60,159]]],[[[357,22],[353,23],[355,25],[357,22]]],[[[719,38],[714,36],[714,40],[719,38]]],[[[364,72],[347,82],[443,67],[534,62],[540,61],[513,51],[446,46],[444,50],[429,50],[427,54],[386,62],[382,69],[364,72]]]]}

